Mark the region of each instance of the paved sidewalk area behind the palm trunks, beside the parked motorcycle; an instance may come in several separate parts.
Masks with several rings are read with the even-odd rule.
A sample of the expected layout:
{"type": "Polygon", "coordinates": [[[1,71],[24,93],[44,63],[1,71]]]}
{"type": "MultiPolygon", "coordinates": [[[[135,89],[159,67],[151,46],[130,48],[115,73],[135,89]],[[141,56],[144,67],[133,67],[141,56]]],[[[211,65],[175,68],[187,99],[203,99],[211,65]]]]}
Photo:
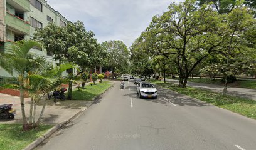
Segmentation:
{"type": "MultiPolygon", "coordinates": [[[[30,98],[24,99],[25,101],[25,111],[26,117],[29,117],[29,109],[30,109],[30,98]]],[[[43,118],[41,122],[44,124],[58,124],[64,121],[67,121],[68,118],[72,118],[75,114],[80,112],[81,110],[85,110],[93,103],[93,101],[60,101],[57,99],[57,103],[53,103],[53,99],[47,100],[45,113],[43,114],[43,118]]],[[[7,94],[0,93],[0,104],[13,104],[13,108],[16,109],[16,116],[14,120],[0,120],[0,124],[10,124],[10,123],[22,123],[21,116],[21,104],[19,97],[9,96],[7,94]]],[[[41,108],[43,104],[38,104],[36,106],[36,118],[41,113],[41,108]]]]}

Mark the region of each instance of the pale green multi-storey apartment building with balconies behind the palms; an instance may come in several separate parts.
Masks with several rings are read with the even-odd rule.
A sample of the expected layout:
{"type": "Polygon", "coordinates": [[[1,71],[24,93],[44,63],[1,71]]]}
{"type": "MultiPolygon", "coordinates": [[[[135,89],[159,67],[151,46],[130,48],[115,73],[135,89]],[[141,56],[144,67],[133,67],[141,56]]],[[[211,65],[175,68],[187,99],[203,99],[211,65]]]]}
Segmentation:
{"type": "MultiPolygon", "coordinates": [[[[35,30],[50,22],[66,26],[70,21],[45,0],[0,0],[0,51],[6,51],[15,41],[33,39],[35,30]]],[[[44,56],[53,65],[58,65],[58,61],[54,61],[53,55],[45,49],[31,49],[30,53],[44,56]]],[[[10,75],[0,68],[0,76],[10,75]]]]}

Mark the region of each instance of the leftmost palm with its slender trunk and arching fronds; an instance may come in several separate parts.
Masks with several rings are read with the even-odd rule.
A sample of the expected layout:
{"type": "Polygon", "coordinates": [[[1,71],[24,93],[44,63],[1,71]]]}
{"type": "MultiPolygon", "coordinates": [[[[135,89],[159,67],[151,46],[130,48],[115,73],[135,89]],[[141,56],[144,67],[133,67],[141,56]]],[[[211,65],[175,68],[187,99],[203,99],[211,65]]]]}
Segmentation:
{"type": "Polygon", "coordinates": [[[11,49],[1,53],[0,57],[0,66],[9,74],[18,76],[23,130],[29,129],[24,109],[24,87],[26,87],[27,76],[32,68],[44,69],[43,64],[41,64],[43,61],[33,59],[33,56],[29,53],[29,50],[35,46],[41,47],[41,44],[33,40],[14,42],[11,49]]]}

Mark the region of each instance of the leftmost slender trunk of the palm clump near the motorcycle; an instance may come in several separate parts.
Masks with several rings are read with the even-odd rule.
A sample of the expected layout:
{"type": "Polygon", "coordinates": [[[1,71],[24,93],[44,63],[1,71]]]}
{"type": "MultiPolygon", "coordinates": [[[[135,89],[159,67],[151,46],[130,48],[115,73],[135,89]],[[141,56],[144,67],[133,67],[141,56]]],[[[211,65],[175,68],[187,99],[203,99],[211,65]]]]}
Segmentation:
{"type": "Polygon", "coordinates": [[[28,122],[26,120],[26,113],[25,113],[25,104],[24,104],[24,90],[22,88],[22,84],[19,84],[19,96],[21,101],[21,114],[22,114],[22,120],[23,120],[23,131],[26,131],[29,129],[28,122]]]}

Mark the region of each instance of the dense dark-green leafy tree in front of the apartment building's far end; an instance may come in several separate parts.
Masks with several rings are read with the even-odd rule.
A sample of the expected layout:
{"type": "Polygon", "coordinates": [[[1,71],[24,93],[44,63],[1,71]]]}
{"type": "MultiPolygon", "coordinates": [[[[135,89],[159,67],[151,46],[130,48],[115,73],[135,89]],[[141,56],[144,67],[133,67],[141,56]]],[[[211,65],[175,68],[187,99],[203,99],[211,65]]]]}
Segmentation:
{"type": "MultiPolygon", "coordinates": [[[[92,31],[87,32],[81,21],[67,24],[67,27],[49,24],[43,29],[38,29],[34,36],[35,39],[43,43],[46,51],[54,54],[55,60],[59,60],[61,63],[75,63],[83,71],[86,66],[95,64],[95,61],[99,59],[98,56],[100,56],[97,55],[100,46],[93,37],[94,33],[92,31]]],[[[70,78],[68,99],[71,99],[72,83],[77,78],[73,74],[73,69],[68,70],[68,78],[70,78]]]]}

